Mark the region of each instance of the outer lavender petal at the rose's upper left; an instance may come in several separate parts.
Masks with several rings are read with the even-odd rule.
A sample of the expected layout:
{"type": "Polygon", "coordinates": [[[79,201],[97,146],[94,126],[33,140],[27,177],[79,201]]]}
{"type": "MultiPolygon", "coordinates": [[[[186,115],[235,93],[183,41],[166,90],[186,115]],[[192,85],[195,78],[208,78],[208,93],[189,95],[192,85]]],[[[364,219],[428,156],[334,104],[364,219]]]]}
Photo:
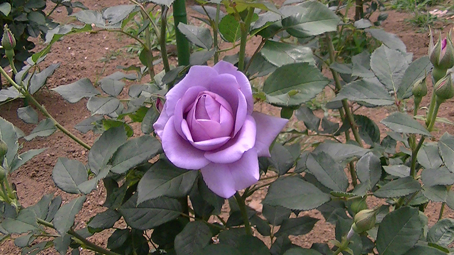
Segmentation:
{"type": "MultiPolygon", "coordinates": [[[[193,66],[189,69],[188,74],[174,88],[169,90],[165,95],[167,111],[173,112],[178,99],[182,98],[186,91],[194,86],[208,88],[211,79],[216,77],[217,71],[207,66],[193,66]]],[[[167,113],[168,113],[167,112],[167,113]]]]}

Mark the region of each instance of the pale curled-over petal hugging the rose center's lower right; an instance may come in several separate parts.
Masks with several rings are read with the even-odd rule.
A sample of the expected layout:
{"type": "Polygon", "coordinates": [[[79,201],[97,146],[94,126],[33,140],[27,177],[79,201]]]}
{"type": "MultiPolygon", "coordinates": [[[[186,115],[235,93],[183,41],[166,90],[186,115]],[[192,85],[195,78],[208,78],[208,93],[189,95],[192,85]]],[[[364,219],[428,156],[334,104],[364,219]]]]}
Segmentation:
{"type": "Polygon", "coordinates": [[[205,158],[214,163],[233,163],[239,160],[245,151],[254,148],[255,140],[255,120],[252,116],[247,116],[244,125],[237,136],[221,148],[205,152],[205,158]]]}

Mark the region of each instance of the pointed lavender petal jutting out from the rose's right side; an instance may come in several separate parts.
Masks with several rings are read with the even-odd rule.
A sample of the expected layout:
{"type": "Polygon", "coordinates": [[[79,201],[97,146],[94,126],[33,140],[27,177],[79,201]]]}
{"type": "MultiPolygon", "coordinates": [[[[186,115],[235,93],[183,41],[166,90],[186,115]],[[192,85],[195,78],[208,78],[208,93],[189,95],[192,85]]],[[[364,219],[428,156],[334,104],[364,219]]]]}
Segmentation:
{"type": "Polygon", "coordinates": [[[252,117],[257,124],[257,140],[255,141],[257,154],[259,157],[270,157],[269,146],[289,120],[256,111],[252,113],[252,117]]]}

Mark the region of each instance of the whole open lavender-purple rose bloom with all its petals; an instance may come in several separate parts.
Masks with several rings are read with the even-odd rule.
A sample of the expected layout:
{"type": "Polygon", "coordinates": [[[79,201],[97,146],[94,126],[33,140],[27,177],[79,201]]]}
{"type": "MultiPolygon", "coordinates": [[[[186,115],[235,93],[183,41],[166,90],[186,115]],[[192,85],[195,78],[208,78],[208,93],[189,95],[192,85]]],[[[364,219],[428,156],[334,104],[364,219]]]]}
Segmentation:
{"type": "Polygon", "coordinates": [[[232,197],[260,177],[258,158],[287,119],[253,112],[251,85],[231,63],[193,66],[165,96],[153,127],[167,158],[185,169],[200,169],[208,187],[232,197]]]}

